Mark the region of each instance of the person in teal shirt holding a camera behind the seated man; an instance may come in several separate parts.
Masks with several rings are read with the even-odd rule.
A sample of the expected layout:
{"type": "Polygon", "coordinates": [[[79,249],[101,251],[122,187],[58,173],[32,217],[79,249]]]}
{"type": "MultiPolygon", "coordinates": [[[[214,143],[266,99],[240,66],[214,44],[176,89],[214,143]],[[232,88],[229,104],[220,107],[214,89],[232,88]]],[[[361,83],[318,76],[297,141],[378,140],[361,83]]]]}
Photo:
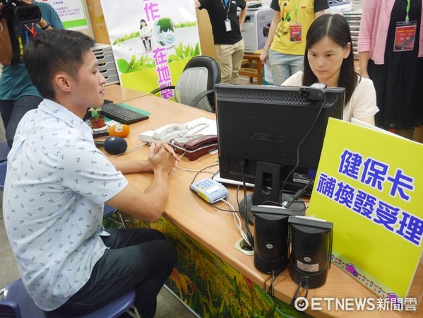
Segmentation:
{"type": "MultiPolygon", "coordinates": [[[[0,77],[0,114],[6,129],[6,140],[10,148],[20,119],[25,112],[37,108],[42,101],[40,93],[32,85],[25,65],[22,62],[22,54],[25,52],[25,47],[37,34],[53,28],[64,29],[58,14],[52,6],[45,2],[22,1],[25,4],[38,6],[42,18],[38,23],[11,24],[11,26],[13,25],[13,38],[10,39],[9,37],[8,40],[12,40],[12,43],[14,43],[13,54],[7,54],[8,57],[1,60],[3,69],[0,77]]],[[[11,28],[8,30],[11,31],[11,28]]],[[[4,39],[4,41],[6,42],[7,40],[4,39]]],[[[0,56],[8,50],[8,47],[0,45],[0,56]]]]}

